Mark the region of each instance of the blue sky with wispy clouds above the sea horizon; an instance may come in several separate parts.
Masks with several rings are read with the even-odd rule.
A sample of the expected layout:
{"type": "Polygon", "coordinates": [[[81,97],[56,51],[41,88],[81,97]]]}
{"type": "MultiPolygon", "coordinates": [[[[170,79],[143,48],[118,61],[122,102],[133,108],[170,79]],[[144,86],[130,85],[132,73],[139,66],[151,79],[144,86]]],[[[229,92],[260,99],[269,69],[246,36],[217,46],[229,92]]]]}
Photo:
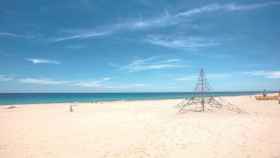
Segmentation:
{"type": "Polygon", "coordinates": [[[280,89],[279,0],[0,2],[0,92],[280,89]]]}

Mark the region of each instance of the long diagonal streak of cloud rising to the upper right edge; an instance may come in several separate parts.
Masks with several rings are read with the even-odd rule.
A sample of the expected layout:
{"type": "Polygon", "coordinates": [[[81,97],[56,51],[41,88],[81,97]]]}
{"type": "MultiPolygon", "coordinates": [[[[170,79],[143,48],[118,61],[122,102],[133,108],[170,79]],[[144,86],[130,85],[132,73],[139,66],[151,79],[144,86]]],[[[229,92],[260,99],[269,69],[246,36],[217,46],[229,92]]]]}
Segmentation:
{"type": "MultiPolygon", "coordinates": [[[[62,42],[62,41],[75,40],[75,39],[77,40],[77,39],[104,37],[121,31],[134,31],[134,30],[143,30],[143,29],[177,25],[189,21],[194,16],[200,14],[207,14],[207,13],[217,12],[217,11],[226,11],[226,12],[250,11],[259,8],[275,6],[275,5],[280,5],[280,2],[272,1],[272,2],[250,3],[250,4],[214,3],[214,4],[208,4],[198,8],[182,11],[176,14],[170,14],[168,11],[165,11],[162,15],[152,17],[152,18],[138,17],[133,20],[128,20],[128,21],[123,20],[125,22],[102,26],[96,29],[72,30],[72,31],[68,30],[67,31],[68,33],[66,35],[51,38],[50,41],[62,42]]],[[[11,36],[13,36],[13,34],[11,34],[11,36]]],[[[172,41],[172,42],[175,46],[177,45],[181,46],[180,41],[172,41]]]]}

